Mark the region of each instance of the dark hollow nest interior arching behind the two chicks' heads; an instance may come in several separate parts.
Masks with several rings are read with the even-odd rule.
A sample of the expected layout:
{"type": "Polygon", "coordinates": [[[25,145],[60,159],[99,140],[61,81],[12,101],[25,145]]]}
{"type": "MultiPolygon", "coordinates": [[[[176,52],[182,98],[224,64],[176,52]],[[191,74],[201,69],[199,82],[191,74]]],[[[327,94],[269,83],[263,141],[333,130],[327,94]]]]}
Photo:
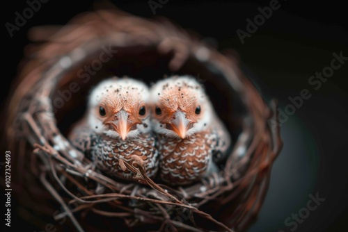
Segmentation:
{"type": "Polygon", "coordinates": [[[242,120],[246,115],[246,107],[242,103],[240,95],[223,78],[223,74],[212,72],[212,70],[209,70],[209,65],[200,62],[196,57],[188,57],[182,67],[173,72],[168,67],[173,54],[163,55],[159,53],[155,46],[111,47],[111,49],[117,51],[117,53],[108,62],[102,63],[102,69],[98,70],[95,75],[89,74],[87,71],[81,72],[81,70],[84,70],[86,65],[90,66],[93,60],[98,60],[100,53],[103,52],[102,49],[90,54],[87,60],[72,68],[57,83],[51,100],[58,129],[65,135],[68,134],[70,126],[83,116],[90,89],[104,78],[129,76],[151,85],[165,76],[191,75],[196,77],[205,87],[216,112],[226,123],[232,139],[237,140],[238,135],[242,132],[242,120]],[[77,76],[77,73],[81,75],[77,76]],[[77,83],[78,87],[75,88],[77,92],[76,90],[74,92],[70,90],[72,83],[77,83]],[[61,104],[61,101],[54,104],[55,99],[62,99],[62,94],[65,94],[63,104],[61,104]]]}

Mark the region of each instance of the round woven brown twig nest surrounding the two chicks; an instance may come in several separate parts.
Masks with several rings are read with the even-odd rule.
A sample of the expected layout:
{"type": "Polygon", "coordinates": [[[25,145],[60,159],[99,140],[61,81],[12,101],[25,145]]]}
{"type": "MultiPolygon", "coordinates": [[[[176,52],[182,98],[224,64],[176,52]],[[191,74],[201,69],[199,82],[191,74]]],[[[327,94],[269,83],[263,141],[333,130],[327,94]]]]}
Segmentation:
{"type": "Polygon", "coordinates": [[[265,103],[237,58],[165,19],[118,10],[33,28],[29,37],[6,127],[22,217],[78,231],[241,231],[255,219],[282,142],[269,124],[275,101],[265,103]],[[66,138],[90,88],[110,76],[151,83],[165,74],[197,76],[228,127],[233,145],[219,173],[173,188],[149,179],[136,159],[125,167],[141,183],[98,172],[66,138]]]}

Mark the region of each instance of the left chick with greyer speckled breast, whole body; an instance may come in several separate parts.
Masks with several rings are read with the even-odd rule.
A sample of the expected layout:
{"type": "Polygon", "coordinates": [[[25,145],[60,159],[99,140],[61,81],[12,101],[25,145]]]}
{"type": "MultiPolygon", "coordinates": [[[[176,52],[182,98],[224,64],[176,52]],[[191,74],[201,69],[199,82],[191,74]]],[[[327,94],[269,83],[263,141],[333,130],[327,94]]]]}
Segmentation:
{"type": "Polygon", "coordinates": [[[90,93],[86,115],[69,135],[70,142],[109,176],[131,180],[122,158],[143,160],[149,177],[158,169],[158,151],[150,127],[148,87],[132,78],[110,78],[90,93]]]}

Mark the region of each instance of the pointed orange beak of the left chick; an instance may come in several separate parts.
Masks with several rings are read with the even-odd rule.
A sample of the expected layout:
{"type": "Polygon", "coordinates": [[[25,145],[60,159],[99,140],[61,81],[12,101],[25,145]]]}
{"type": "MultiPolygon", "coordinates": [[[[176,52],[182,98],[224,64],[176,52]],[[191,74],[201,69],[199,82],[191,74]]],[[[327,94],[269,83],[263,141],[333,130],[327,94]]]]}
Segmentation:
{"type": "Polygon", "coordinates": [[[134,128],[136,124],[129,119],[129,113],[127,113],[125,110],[120,110],[120,112],[115,115],[115,119],[116,120],[110,122],[110,124],[124,141],[127,138],[129,131],[136,129],[136,127],[134,128]]]}

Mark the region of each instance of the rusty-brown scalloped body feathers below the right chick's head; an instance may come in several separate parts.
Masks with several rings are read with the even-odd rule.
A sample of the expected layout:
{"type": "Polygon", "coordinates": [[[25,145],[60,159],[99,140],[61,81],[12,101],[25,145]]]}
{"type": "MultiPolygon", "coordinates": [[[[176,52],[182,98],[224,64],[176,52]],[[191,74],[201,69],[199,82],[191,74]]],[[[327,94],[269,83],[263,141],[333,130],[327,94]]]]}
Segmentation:
{"type": "Polygon", "coordinates": [[[160,176],[171,185],[187,185],[207,174],[215,153],[226,154],[229,136],[219,127],[180,139],[159,136],[160,176]]]}

